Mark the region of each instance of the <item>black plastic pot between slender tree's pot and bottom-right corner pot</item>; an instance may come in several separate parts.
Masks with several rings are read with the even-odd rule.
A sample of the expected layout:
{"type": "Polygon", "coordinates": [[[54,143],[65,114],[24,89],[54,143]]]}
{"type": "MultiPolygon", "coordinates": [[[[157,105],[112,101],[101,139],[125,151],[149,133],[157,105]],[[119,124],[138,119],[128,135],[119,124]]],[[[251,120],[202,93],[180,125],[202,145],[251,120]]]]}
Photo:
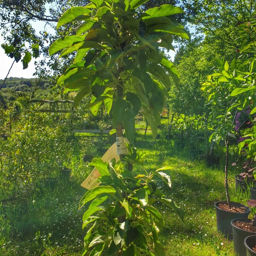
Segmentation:
{"type": "Polygon", "coordinates": [[[244,239],[247,236],[255,235],[255,233],[236,227],[233,224],[236,221],[251,222],[251,219],[238,218],[238,219],[233,219],[231,221],[231,226],[233,228],[234,253],[237,256],[245,256],[246,255],[246,247],[244,245],[244,239]]]}

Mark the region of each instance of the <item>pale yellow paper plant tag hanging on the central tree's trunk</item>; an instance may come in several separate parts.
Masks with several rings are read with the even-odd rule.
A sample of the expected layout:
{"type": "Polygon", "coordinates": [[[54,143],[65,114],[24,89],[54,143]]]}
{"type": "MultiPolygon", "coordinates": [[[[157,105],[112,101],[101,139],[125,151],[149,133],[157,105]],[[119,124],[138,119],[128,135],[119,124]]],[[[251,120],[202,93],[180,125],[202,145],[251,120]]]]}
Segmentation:
{"type": "MultiPolygon", "coordinates": [[[[123,137],[119,137],[123,138],[123,137]]],[[[125,142],[128,143],[128,140],[125,138],[125,142]]],[[[124,143],[125,144],[125,143],[124,143]]],[[[126,146],[125,146],[126,148],[126,146]]],[[[127,151],[127,149],[126,149],[127,151]]],[[[127,153],[127,152],[126,152],[127,153]]],[[[108,162],[111,159],[115,158],[116,162],[120,160],[120,157],[117,153],[117,143],[114,143],[107,151],[106,153],[102,156],[102,161],[108,162]]],[[[95,188],[96,186],[100,185],[100,183],[97,181],[97,179],[100,177],[100,172],[98,169],[93,168],[89,176],[83,181],[81,186],[83,188],[86,188],[87,190],[91,190],[95,188]]]]}

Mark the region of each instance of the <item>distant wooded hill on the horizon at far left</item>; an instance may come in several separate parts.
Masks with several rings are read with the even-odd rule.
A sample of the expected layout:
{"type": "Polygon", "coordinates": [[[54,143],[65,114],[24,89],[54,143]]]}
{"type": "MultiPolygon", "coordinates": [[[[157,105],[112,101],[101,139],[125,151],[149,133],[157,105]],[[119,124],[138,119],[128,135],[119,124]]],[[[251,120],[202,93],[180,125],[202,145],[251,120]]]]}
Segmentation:
{"type": "MultiPolygon", "coordinates": [[[[0,84],[3,83],[3,79],[0,79],[0,84]]],[[[19,77],[9,77],[6,79],[3,88],[13,88],[16,91],[26,90],[26,88],[32,86],[39,86],[42,89],[47,89],[50,86],[49,80],[43,80],[38,78],[19,78],[19,77]]]]}

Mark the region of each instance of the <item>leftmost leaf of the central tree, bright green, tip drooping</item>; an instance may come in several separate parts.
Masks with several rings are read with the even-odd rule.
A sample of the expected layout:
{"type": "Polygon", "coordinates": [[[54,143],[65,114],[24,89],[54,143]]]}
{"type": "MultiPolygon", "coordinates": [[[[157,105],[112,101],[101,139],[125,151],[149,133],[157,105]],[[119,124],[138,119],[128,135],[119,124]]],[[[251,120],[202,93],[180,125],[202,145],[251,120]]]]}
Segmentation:
{"type": "MultiPolygon", "coordinates": [[[[74,43],[82,42],[85,40],[85,35],[71,35],[63,38],[59,38],[49,48],[49,55],[57,53],[59,50],[62,50],[67,47],[71,47],[74,43]]],[[[90,47],[90,46],[89,46],[90,47]]],[[[86,48],[86,47],[83,47],[86,48]]],[[[88,47],[87,47],[88,48],[88,47]]]]}

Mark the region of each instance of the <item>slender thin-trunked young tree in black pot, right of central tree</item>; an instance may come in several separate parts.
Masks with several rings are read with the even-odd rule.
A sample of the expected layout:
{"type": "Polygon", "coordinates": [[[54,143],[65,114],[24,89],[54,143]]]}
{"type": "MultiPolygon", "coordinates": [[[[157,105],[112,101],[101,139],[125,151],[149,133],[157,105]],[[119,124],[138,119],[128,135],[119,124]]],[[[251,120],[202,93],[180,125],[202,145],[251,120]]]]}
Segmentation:
{"type": "Polygon", "coordinates": [[[215,66],[214,74],[208,76],[208,80],[202,85],[202,89],[210,95],[208,97],[208,106],[211,111],[209,113],[209,120],[211,121],[213,133],[209,140],[216,143],[223,140],[226,147],[224,180],[227,200],[215,203],[217,228],[226,237],[232,239],[230,221],[234,218],[247,218],[250,212],[247,206],[231,202],[228,191],[229,140],[235,137],[231,132],[234,127],[234,116],[236,115],[236,109],[234,108],[236,98],[231,96],[230,86],[233,83],[231,78],[233,77],[232,74],[236,66],[234,65],[234,61],[229,65],[224,59],[218,60],[215,66]],[[229,76],[230,80],[225,75],[229,76]]]}

